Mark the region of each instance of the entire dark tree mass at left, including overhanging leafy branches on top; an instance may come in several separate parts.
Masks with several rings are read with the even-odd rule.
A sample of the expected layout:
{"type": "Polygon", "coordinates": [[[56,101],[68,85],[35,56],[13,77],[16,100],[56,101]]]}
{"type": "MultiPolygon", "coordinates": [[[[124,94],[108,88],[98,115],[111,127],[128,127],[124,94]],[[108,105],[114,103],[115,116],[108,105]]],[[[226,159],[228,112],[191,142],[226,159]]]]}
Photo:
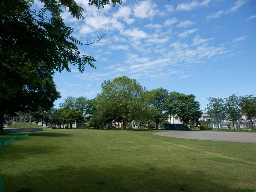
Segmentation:
{"type": "MultiPolygon", "coordinates": [[[[50,101],[47,108],[52,107],[60,97],[53,86],[53,71],[70,72],[70,64],[77,66],[80,72],[85,70],[86,64],[95,67],[96,60],[78,49],[88,44],[74,38],[74,29],[66,26],[61,17],[63,9],[68,9],[73,17],[83,19],[83,8],[75,0],[39,2],[42,3],[40,10],[34,9],[33,0],[2,0],[0,3],[0,133],[3,133],[4,113],[25,112],[36,106],[45,108],[41,102],[44,100],[50,101]],[[52,85],[43,89],[40,85],[46,83],[46,79],[52,85]],[[44,91],[48,93],[42,93],[44,91]]],[[[113,6],[121,3],[112,0],[113,6]]],[[[100,8],[109,1],[90,0],[89,4],[100,8]]],[[[105,35],[99,35],[91,43],[105,35]]]]}

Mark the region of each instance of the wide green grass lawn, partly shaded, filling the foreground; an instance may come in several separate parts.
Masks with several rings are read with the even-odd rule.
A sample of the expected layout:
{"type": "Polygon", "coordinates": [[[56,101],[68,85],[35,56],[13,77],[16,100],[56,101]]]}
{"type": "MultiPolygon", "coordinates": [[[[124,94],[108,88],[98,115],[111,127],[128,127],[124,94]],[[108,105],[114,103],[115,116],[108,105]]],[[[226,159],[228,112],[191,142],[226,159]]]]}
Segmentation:
{"type": "Polygon", "coordinates": [[[152,133],[44,128],[0,149],[5,189],[256,192],[255,144],[152,133]]]}

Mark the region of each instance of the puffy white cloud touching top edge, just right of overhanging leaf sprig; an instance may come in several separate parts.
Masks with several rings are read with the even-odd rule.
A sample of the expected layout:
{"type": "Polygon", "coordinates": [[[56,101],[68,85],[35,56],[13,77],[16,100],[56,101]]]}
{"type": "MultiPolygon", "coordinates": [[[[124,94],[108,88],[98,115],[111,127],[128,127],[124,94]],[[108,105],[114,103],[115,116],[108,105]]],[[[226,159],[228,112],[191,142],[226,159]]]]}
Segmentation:
{"type": "Polygon", "coordinates": [[[141,19],[153,18],[155,15],[159,14],[156,7],[157,4],[153,3],[151,0],[141,1],[134,6],[134,16],[141,19]]]}

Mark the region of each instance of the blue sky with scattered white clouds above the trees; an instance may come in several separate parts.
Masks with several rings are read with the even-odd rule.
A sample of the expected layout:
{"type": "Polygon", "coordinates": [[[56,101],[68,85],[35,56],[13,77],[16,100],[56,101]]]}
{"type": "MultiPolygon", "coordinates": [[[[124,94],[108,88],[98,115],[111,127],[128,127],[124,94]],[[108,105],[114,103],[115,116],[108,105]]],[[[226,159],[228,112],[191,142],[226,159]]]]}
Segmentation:
{"type": "Polygon", "coordinates": [[[63,18],[83,43],[108,33],[101,43],[80,47],[97,69],[56,72],[62,98],[94,98],[104,80],[136,79],[147,90],[163,87],[193,94],[204,110],[207,98],[256,94],[255,0],[123,0],[97,9],[86,0],[84,20],[63,18]]]}

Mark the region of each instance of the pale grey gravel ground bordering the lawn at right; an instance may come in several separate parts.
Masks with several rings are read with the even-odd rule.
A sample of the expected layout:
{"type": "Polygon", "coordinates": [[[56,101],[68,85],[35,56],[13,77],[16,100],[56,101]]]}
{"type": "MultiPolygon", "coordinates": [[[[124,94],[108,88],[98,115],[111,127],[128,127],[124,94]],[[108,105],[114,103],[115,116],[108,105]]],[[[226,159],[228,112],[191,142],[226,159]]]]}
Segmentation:
{"type": "Polygon", "coordinates": [[[239,143],[256,143],[255,132],[214,132],[214,131],[164,131],[155,132],[154,135],[184,138],[184,139],[200,139],[210,141],[226,141],[239,143]]]}

